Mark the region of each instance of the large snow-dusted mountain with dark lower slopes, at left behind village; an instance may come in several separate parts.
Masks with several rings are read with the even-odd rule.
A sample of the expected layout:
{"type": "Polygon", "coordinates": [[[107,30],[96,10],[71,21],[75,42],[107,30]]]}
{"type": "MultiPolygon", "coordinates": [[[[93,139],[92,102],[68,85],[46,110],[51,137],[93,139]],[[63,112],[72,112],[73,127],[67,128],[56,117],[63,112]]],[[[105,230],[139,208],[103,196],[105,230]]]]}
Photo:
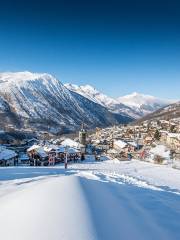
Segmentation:
{"type": "Polygon", "coordinates": [[[82,122],[91,128],[132,120],[70,92],[50,74],[31,72],[0,73],[0,117],[1,125],[68,130],[82,122]]]}

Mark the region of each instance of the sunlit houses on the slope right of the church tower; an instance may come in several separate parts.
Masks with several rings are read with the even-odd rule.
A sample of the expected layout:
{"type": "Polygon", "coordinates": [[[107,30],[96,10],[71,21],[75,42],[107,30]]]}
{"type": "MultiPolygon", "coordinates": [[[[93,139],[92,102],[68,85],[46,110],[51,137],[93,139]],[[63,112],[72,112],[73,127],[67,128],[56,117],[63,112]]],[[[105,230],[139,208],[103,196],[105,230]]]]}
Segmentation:
{"type": "Polygon", "coordinates": [[[136,158],[155,163],[180,165],[180,119],[97,128],[91,143],[119,160],[136,158]]]}

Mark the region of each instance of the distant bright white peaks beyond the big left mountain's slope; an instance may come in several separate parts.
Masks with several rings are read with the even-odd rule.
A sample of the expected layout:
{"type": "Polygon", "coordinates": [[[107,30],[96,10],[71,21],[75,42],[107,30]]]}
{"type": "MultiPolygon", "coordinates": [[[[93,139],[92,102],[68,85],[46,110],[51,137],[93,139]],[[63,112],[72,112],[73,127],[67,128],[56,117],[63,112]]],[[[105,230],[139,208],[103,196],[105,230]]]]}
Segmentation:
{"type": "Polygon", "coordinates": [[[89,85],[77,86],[65,84],[73,92],[107,107],[111,112],[124,113],[135,119],[141,118],[149,113],[156,111],[170,103],[170,100],[159,99],[153,96],[133,93],[118,99],[108,97],[89,85]]]}

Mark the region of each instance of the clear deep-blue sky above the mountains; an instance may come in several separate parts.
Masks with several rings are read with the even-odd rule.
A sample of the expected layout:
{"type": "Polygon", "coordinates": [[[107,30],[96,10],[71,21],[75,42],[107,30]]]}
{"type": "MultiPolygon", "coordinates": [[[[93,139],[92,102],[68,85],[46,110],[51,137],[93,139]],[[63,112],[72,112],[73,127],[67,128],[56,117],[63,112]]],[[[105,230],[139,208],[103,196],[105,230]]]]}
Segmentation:
{"type": "Polygon", "coordinates": [[[180,99],[179,11],[174,0],[3,1],[0,71],[180,99]]]}

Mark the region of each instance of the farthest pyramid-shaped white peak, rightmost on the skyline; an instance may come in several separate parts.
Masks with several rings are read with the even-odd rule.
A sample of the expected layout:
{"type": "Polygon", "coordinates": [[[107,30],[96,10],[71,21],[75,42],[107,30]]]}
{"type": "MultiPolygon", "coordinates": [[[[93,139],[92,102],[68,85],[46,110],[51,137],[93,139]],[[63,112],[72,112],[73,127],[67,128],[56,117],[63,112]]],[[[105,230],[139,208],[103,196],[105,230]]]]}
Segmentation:
{"type": "Polygon", "coordinates": [[[173,103],[173,100],[160,99],[154,96],[134,92],[130,95],[118,98],[118,102],[129,106],[136,112],[139,112],[140,116],[145,116],[173,103]]]}

